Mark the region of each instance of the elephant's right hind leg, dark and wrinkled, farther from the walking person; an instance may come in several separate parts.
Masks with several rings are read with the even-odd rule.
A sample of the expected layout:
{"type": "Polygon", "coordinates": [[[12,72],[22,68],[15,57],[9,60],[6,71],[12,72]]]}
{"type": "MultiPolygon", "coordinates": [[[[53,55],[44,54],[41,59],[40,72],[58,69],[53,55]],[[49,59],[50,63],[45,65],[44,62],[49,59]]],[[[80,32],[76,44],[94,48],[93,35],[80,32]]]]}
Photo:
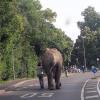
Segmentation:
{"type": "Polygon", "coordinates": [[[55,72],[56,89],[60,89],[60,87],[61,87],[60,76],[61,76],[61,67],[57,66],[57,69],[55,72]]]}

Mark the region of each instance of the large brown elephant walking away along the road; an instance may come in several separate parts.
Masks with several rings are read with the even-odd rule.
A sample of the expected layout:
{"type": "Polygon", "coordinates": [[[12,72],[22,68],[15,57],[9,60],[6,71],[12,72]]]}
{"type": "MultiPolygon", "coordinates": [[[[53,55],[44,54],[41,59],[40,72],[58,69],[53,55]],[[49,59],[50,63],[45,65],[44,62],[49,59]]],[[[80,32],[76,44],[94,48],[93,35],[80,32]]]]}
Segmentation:
{"type": "Polygon", "coordinates": [[[63,57],[56,48],[46,48],[41,57],[43,70],[47,75],[48,89],[60,89],[61,70],[63,67],[63,57]],[[55,80],[55,87],[54,81],[55,80]]]}

